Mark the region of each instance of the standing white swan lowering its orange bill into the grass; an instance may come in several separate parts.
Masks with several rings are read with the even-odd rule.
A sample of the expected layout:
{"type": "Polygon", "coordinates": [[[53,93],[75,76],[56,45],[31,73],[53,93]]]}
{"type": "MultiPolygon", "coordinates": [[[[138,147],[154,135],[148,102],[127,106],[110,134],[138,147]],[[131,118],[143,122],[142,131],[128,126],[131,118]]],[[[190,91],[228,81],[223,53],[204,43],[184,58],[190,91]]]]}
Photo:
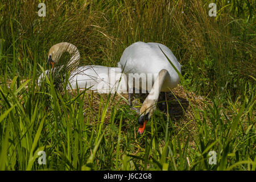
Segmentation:
{"type": "Polygon", "coordinates": [[[126,73],[127,77],[129,77],[127,81],[129,100],[131,93],[133,93],[133,88],[147,90],[149,92],[139,111],[139,134],[143,133],[147,121],[155,111],[159,93],[170,91],[170,89],[175,88],[180,81],[178,73],[172,67],[161,49],[168,59],[170,59],[177,71],[181,73],[181,65],[174,56],[174,53],[172,53],[168,47],[160,43],[133,43],[123,51],[118,63],[118,68],[121,68],[122,71],[126,73]],[[135,80],[139,79],[139,85],[134,85],[134,78],[135,80]],[[147,84],[144,84],[144,78],[147,79],[147,84]],[[151,82],[153,84],[152,86],[151,82]]]}

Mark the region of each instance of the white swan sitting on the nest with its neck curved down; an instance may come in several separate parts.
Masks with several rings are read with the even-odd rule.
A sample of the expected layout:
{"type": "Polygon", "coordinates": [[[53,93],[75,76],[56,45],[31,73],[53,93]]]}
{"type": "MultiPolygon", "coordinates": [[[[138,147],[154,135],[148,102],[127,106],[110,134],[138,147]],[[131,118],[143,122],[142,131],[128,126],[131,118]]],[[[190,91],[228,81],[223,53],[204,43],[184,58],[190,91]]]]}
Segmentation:
{"type": "MultiPolygon", "coordinates": [[[[51,65],[52,72],[55,71],[56,68],[54,66],[59,62],[64,52],[68,52],[71,55],[71,59],[67,64],[67,68],[71,68],[67,89],[89,88],[98,93],[127,93],[126,75],[122,73],[121,68],[101,65],[78,67],[80,53],[77,47],[71,43],[58,43],[49,49],[48,64],[51,65]]],[[[60,68],[63,67],[64,65],[60,66],[60,68]]],[[[49,70],[47,69],[45,73],[47,75],[49,70]]],[[[44,73],[38,78],[38,85],[40,85],[43,78],[44,73]]]]}

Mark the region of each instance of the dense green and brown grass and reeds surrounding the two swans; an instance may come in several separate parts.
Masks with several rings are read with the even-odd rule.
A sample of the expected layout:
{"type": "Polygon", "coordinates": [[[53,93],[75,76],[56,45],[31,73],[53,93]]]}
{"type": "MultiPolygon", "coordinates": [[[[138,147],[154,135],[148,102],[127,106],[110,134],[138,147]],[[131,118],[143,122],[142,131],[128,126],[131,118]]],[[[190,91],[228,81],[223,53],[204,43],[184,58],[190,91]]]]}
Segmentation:
{"type": "Polygon", "coordinates": [[[46,1],[43,18],[39,1],[1,1],[0,169],[255,170],[255,2],[215,1],[216,17],[210,2],[46,1]],[[157,110],[139,136],[122,97],[36,84],[53,44],[75,44],[81,65],[115,67],[137,41],[169,47],[184,92],[204,96],[203,108],[188,97],[182,125],[157,110]]]}

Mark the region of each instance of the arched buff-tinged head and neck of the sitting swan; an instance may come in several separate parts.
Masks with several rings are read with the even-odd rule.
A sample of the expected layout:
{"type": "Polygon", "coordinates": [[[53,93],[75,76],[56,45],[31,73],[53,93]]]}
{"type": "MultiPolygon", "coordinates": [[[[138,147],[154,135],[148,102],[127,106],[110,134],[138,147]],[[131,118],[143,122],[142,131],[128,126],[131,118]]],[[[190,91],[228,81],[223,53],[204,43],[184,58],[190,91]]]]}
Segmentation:
{"type": "Polygon", "coordinates": [[[68,65],[77,66],[79,64],[79,50],[76,46],[67,42],[55,44],[49,49],[48,64],[50,64],[53,68],[64,52],[68,52],[71,55],[71,59],[69,60],[68,65]]]}

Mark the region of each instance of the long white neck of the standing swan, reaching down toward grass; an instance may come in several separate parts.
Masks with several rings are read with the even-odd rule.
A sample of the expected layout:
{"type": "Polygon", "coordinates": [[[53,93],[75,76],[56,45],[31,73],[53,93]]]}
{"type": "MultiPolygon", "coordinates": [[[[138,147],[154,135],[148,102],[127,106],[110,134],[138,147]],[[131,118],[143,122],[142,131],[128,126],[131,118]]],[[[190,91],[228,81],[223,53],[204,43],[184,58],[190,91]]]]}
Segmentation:
{"type": "Polygon", "coordinates": [[[156,102],[158,102],[159,94],[161,92],[161,88],[163,85],[163,82],[168,75],[168,71],[166,69],[162,69],[158,76],[156,77],[156,80],[154,82],[154,85],[152,86],[152,89],[150,90],[150,93],[148,94],[146,100],[144,100],[143,105],[146,106],[146,108],[154,106],[156,102]]]}

